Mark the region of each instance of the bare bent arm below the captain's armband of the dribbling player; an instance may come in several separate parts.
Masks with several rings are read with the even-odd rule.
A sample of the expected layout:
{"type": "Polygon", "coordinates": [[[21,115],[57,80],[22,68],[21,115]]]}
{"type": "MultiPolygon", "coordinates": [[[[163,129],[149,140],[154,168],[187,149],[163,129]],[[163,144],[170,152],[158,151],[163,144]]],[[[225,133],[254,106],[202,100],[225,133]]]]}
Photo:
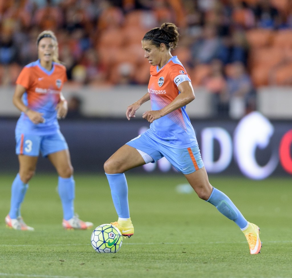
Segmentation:
{"type": "Polygon", "coordinates": [[[153,122],[172,111],[179,109],[195,99],[194,89],[190,81],[186,80],[178,85],[180,94],[168,105],[160,110],[150,110],[143,113],[142,117],[148,122],[153,122]]]}

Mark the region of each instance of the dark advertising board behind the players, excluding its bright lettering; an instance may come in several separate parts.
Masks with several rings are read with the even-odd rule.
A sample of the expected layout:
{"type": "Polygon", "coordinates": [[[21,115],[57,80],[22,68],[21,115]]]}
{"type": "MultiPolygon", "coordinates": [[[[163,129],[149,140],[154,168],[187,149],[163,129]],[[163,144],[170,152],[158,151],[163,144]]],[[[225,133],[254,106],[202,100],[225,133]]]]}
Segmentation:
{"type": "MultiPolygon", "coordinates": [[[[0,119],[0,172],[17,172],[18,160],[15,155],[15,139],[14,128],[16,124],[15,118],[13,119],[0,119]]],[[[226,134],[230,135],[231,140],[234,137],[234,131],[237,128],[239,122],[233,120],[192,120],[192,124],[195,128],[201,154],[204,160],[203,150],[213,150],[213,160],[216,161],[222,155],[222,147],[220,142],[214,139],[212,144],[210,142],[206,146],[206,142],[202,142],[202,131],[208,128],[220,128],[226,134]],[[204,145],[205,144],[205,145],[204,145]],[[204,145],[204,148],[202,146],[204,145]]],[[[274,132],[269,140],[267,146],[264,148],[256,148],[255,160],[258,165],[265,165],[271,158],[276,156],[279,158],[279,145],[283,140],[283,137],[287,132],[292,130],[292,125],[287,121],[274,121],[271,122],[274,132]]],[[[127,141],[138,136],[141,130],[149,127],[149,124],[145,120],[132,119],[128,121],[126,119],[86,119],[86,120],[62,120],[60,121],[61,132],[65,136],[69,145],[71,153],[72,164],[76,172],[103,172],[103,163],[114,153],[120,146],[127,141]]],[[[248,136],[248,134],[247,134],[248,136]]],[[[234,143],[232,143],[232,158],[227,167],[223,170],[219,170],[216,174],[224,175],[245,175],[240,170],[238,161],[234,157],[234,143]]],[[[227,145],[229,146],[229,145],[227,145]]],[[[243,146],[244,147],[244,146],[243,146]]],[[[289,153],[288,158],[292,157],[292,147],[287,149],[289,153]]],[[[204,161],[205,162],[205,161],[204,161]]],[[[288,161],[290,162],[290,161],[288,161]]],[[[270,175],[284,175],[289,176],[291,173],[285,170],[281,164],[281,160],[276,160],[275,169],[270,175]]],[[[206,162],[205,162],[206,165],[206,162]]],[[[206,167],[207,168],[207,167],[206,167]]],[[[54,168],[51,166],[46,158],[39,158],[37,171],[41,172],[54,172],[54,168]]],[[[170,173],[175,172],[172,167],[152,167],[151,170],[147,170],[145,167],[138,167],[131,170],[132,172],[157,172],[157,173],[170,173]]],[[[207,169],[209,174],[216,172],[214,169],[207,169]]]]}

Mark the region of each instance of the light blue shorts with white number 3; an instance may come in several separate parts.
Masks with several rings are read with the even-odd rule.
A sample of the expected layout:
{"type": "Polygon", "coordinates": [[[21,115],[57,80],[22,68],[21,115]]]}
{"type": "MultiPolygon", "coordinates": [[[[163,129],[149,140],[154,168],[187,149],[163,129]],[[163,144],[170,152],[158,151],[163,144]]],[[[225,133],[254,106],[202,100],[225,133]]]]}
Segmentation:
{"type": "Polygon", "coordinates": [[[16,154],[27,156],[39,156],[39,152],[41,152],[42,156],[46,157],[51,153],[68,149],[67,142],[60,130],[48,135],[16,133],[15,140],[16,154]]]}

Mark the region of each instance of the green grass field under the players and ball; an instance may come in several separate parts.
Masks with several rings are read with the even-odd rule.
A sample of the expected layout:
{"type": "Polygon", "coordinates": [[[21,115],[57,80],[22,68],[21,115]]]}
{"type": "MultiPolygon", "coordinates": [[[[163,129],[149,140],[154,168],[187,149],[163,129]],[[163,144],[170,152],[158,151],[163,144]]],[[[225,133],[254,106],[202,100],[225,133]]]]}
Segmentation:
{"type": "MultiPolygon", "coordinates": [[[[34,232],[5,227],[14,175],[0,175],[0,277],[292,277],[291,178],[251,181],[210,177],[247,220],[261,229],[263,248],[250,255],[234,222],[195,193],[176,191],[180,175],[127,175],[135,234],[118,253],[99,254],[90,243],[93,229],[61,226],[57,176],[36,174],[22,205],[34,232]]],[[[104,175],[75,175],[75,210],[94,226],[117,220],[104,175]]]]}

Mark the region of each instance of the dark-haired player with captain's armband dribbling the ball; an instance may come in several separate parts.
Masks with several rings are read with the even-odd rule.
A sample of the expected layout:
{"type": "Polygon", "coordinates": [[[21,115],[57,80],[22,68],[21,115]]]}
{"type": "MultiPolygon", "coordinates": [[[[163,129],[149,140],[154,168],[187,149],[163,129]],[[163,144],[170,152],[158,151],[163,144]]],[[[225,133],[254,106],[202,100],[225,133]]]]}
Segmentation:
{"type": "Polygon", "coordinates": [[[124,172],[162,157],[182,172],[197,195],[213,204],[220,213],[233,220],[244,232],[250,253],[260,252],[259,228],[247,222],[240,211],[223,192],[211,186],[201,159],[194,129],[185,106],[195,99],[189,75],[171,50],[178,42],[178,28],[164,23],[148,31],[142,39],[144,57],[150,63],[148,92],[128,106],[126,117],[146,101],[151,109],[142,117],[150,122],[150,129],[118,149],[104,164],[115,209],[119,216],[111,223],[124,236],[134,234],[128,206],[128,186],[124,172]]]}

